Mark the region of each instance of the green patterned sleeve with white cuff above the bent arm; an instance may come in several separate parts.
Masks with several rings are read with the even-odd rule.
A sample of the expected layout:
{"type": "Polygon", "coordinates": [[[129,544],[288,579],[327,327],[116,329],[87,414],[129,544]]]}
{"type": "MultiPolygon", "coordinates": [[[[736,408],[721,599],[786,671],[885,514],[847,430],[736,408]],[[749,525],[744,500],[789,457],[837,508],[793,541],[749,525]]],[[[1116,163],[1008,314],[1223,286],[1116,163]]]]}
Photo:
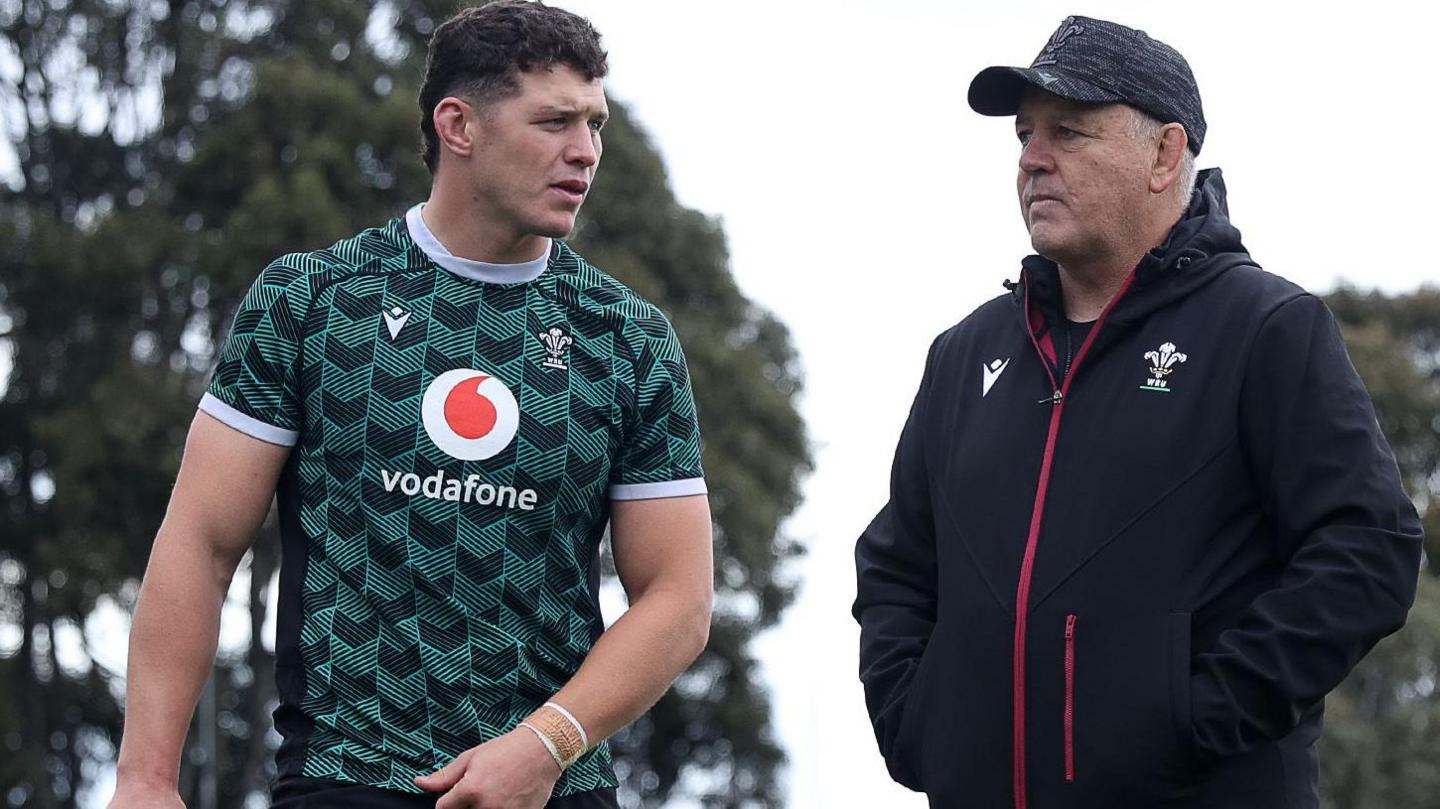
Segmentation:
{"type": "Polygon", "coordinates": [[[690,370],[674,328],[655,312],[657,337],[635,356],[625,396],[629,410],[624,445],[611,474],[611,500],[652,500],[706,494],[700,464],[700,422],[690,370]]]}

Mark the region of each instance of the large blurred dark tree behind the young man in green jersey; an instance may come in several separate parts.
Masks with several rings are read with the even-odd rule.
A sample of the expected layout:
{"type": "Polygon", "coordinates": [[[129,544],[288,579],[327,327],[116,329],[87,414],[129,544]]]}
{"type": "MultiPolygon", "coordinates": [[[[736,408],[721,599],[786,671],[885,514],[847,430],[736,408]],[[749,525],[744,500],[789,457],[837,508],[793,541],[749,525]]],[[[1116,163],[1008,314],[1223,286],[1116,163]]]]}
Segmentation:
{"type": "MultiPolygon", "coordinates": [[[[19,176],[0,191],[0,795],[75,806],[114,757],[122,672],[86,622],[128,607],[179,448],[239,297],[274,256],[315,249],[423,199],[415,82],[454,4],[75,0],[0,4],[0,111],[19,176]],[[369,32],[369,33],[367,33],[369,32]],[[376,33],[379,32],[379,33],[376,33]],[[157,101],[160,104],[157,104],[157,101]]],[[[716,515],[711,643],[616,738],[625,790],[778,805],[750,636],[793,584],[779,524],[808,449],[783,325],[729,275],[720,225],[680,206],[613,104],[577,249],[675,322],[687,347],[716,515]],[[736,413],[744,417],[734,417],[736,413]],[[706,779],[687,773],[707,773],[706,779]]],[[[192,733],[183,789],[238,806],[262,789],[272,708],[261,639],[278,544],[249,574],[251,642],[213,682],[219,777],[192,733]]],[[[197,723],[202,718],[197,718],[197,723]]],[[[193,728],[196,730],[196,728],[193,728]]]]}

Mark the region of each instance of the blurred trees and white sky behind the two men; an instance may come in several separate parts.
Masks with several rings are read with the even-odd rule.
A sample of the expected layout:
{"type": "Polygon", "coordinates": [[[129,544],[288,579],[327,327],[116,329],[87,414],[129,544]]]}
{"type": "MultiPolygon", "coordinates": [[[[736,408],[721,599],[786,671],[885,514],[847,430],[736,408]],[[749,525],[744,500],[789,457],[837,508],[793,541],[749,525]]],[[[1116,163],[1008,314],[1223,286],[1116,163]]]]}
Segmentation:
{"type": "MultiPolygon", "coordinates": [[[[963,101],[1068,13],[1176,46],[1256,258],[1323,292],[1440,553],[1434,7],[563,1],[615,117],[572,243],[674,320],[716,514],[706,655],[616,737],[626,806],[919,808],[855,677],[854,538],[930,338],[1028,252],[1007,119],[963,101]],[[1427,285],[1428,284],[1428,285],[1427,285]]],[[[456,3],[0,0],[0,805],[102,806],[179,449],[256,272],[425,199],[415,104],[456,3]]],[[[184,757],[264,806],[268,524],[184,757]]],[[[1440,583],[1328,701],[1331,809],[1440,795],[1440,583]]],[[[609,586],[608,619],[624,610],[609,586]]]]}

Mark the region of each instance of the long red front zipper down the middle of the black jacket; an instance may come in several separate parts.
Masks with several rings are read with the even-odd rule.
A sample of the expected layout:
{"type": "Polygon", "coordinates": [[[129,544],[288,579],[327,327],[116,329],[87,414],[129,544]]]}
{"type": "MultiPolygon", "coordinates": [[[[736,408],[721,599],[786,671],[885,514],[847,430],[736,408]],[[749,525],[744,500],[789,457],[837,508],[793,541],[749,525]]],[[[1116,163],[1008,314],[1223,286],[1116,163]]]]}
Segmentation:
{"type": "Polygon", "coordinates": [[[1014,679],[1011,682],[1011,733],[1015,743],[1011,751],[1011,772],[1014,777],[1011,786],[1015,795],[1015,809],[1025,809],[1027,805],[1025,633],[1030,620],[1030,579],[1035,573],[1035,546],[1040,543],[1040,527],[1045,514],[1045,492],[1050,489],[1050,468],[1056,458],[1056,440],[1060,438],[1060,417],[1066,410],[1066,394],[1070,393],[1070,383],[1080,371],[1080,364],[1084,361],[1086,354],[1090,353],[1090,345],[1094,343],[1096,335],[1100,334],[1100,328],[1110,315],[1110,309],[1113,309],[1115,304],[1125,297],[1125,292],[1130,288],[1130,282],[1135,281],[1135,274],[1132,272],[1125,278],[1125,284],[1120,284],[1115,297],[1104,305],[1104,311],[1100,312],[1094,325],[1090,327],[1090,334],[1087,334],[1084,343],[1080,344],[1080,351],[1076,353],[1074,363],[1070,364],[1070,373],[1066,374],[1066,379],[1061,380],[1058,386],[1056,386],[1056,374],[1050,369],[1050,363],[1045,361],[1045,353],[1040,348],[1040,341],[1035,338],[1035,328],[1030,322],[1030,279],[1025,274],[1021,274],[1021,281],[1025,285],[1025,297],[1022,301],[1025,308],[1025,333],[1030,335],[1030,343],[1035,347],[1035,354],[1040,356],[1040,364],[1044,366],[1045,373],[1050,376],[1050,386],[1056,389],[1056,393],[1050,399],[1043,399],[1043,402],[1053,402],[1054,410],[1050,412],[1050,430],[1045,435],[1045,455],[1040,462],[1040,482],[1035,485],[1035,502],[1030,511],[1030,531],[1025,537],[1025,556],[1020,563],[1020,584],[1015,587],[1015,643],[1011,654],[1011,671],[1014,672],[1014,679]]]}

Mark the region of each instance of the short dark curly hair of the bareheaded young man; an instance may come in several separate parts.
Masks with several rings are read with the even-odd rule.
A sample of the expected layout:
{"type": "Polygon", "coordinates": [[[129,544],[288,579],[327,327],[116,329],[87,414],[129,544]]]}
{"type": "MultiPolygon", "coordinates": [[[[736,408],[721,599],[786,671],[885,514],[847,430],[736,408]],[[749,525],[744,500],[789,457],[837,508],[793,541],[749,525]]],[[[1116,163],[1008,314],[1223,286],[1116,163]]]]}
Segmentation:
{"type": "Polygon", "coordinates": [[[589,20],[539,0],[495,0],[464,9],[435,29],[420,85],[420,155],[435,173],[439,135],[435,105],[451,95],[475,105],[520,92],[520,73],[567,65],[586,79],[605,78],[609,65],[600,35],[589,20]]]}

